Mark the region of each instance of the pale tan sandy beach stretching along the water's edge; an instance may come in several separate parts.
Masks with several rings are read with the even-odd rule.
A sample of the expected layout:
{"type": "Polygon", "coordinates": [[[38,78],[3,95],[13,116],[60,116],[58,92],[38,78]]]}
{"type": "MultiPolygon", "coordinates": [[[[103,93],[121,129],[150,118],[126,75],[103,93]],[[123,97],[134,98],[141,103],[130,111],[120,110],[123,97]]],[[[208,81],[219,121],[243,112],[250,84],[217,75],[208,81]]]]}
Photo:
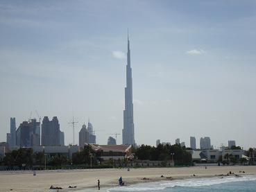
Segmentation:
{"type": "Polygon", "coordinates": [[[92,169],[92,170],[59,170],[37,171],[33,176],[32,171],[2,171],[0,172],[0,191],[53,191],[49,187],[60,186],[60,191],[76,191],[86,188],[95,188],[97,180],[101,181],[101,187],[117,186],[120,176],[126,184],[138,182],[155,182],[160,180],[172,180],[194,177],[214,177],[226,175],[229,171],[238,175],[256,175],[256,166],[209,166],[182,167],[182,168],[132,168],[127,169],[92,169]],[[244,171],[245,173],[239,173],[244,171]],[[161,177],[163,175],[164,177],[161,177]],[[146,177],[148,180],[143,180],[146,177]],[[171,177],[171,178],[168,178],[171,177]],[[77,186],[76,189],[68,189],[68,186],[77,186]]]}

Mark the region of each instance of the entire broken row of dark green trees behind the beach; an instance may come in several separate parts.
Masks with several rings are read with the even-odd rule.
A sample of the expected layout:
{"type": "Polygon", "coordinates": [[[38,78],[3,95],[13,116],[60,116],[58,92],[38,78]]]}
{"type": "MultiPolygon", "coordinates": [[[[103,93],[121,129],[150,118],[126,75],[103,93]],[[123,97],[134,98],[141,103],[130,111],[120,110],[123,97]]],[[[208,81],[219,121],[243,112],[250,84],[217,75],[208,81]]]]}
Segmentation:
{"type": "MultiPolygon", "coordinates": [[[[246,156],[250,157],[250,162],[253,162],[253,148],[250,148],[246,152],[246,156]]],[[[190,152],[186,151],[185,147],[180,145],[165,145],[159,144],[157,147],[142,145],[139,148],[133,148],[133,154],[136,159],[139,160],[151,160],[169,162],[172,159],[178,166],[187,166],[192,164],[192,157],[190,152]]],[[[6,156],[0,161],[0,165],[3,166],[19,166],[20,168],[32,167],[32,166],[99,166],[101,152],[96,153],[92,150],[91,146],[85,146],[80,152],[76,152],[69,159],[66,155],[51,154],[45,155],[43,152],[33,152],[32,148],[20,148],[19,150],[12,150],[12,152],[6,153],[6,156]]],[[[109,162],[105,162],[111,166],[126,165],[129,160],[119,159],[114,162],[110,159],[109,162]]],[[[246,158],[237,159],[231,154],[225,154],[224,157],[219,157],[219,162],[223,164],[244,164],[247,162],[246,158]]]]}

